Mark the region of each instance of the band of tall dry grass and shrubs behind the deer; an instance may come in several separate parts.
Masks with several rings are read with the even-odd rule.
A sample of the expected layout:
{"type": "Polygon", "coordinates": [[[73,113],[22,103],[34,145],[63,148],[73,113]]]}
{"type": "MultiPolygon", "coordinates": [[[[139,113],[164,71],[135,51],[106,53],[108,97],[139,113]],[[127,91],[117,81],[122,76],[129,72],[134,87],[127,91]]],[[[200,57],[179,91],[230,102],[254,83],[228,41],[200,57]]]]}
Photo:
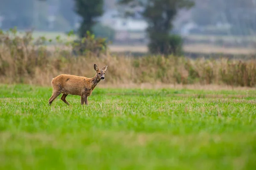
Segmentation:
{"type": "Polygon", "coordinates": [[[59,74],[93,77],[93,64],[108,65],[108,84],[224,84],[255,86],[256,60],[192,60],[183,57],[141,58],[101,55],[73,56],[69,44],[64,49],[47,50],[43,37],[20,37],[0,32],[0,82],[50,86],[59,74]]]}

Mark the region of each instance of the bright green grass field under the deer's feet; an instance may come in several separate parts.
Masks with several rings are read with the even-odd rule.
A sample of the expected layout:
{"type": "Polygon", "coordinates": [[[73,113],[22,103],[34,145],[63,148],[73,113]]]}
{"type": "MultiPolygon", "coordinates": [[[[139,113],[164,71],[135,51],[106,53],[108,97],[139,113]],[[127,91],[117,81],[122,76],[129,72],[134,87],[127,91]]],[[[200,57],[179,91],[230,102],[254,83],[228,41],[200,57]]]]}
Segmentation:
{"type": "Polygon", "coordinates": [[[254,170],[256,90],[0,85],[0,169],[254,170]]]}

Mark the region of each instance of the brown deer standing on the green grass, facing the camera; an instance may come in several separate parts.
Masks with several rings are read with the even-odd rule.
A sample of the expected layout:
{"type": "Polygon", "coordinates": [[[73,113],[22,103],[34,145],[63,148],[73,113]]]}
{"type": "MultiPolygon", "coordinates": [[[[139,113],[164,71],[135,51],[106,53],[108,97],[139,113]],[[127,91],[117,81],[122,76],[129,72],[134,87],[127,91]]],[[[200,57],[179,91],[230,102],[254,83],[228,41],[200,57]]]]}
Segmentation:
{"type": "Polygon", "coordinates": [[[52,101],[55,100],[61,93],[61,100],[65,104],[70,105],[66,97],[67,95],[80,95],[81,104],[88,105],[87,97],[90,96],[93,92],[93,89],[97,84],[105,79],[105,71],[108,66],[104,66],[102,69],[99,69],[96,64],[94,64],[94,69],[96,75],[93,78],[81,77],[76,75],[65,75],[61,74],[52,79],[53,92],[51,98],[49,98],[49,105],[52,104],[52,101]]]}

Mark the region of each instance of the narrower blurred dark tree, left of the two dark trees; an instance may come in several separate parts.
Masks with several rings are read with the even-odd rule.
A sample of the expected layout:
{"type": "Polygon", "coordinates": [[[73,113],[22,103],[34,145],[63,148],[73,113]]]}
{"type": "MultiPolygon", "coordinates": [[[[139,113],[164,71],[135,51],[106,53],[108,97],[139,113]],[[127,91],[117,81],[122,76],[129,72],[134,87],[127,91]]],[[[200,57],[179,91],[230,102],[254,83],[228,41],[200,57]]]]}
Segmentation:
{"type": "Polygon", "coordinates": [[[75,11],[82,17],[79,35],[84,37],[87,31],[93,32],[97,17],[103,14],[103,0],[75,0],[75,2],[75,11]]]}

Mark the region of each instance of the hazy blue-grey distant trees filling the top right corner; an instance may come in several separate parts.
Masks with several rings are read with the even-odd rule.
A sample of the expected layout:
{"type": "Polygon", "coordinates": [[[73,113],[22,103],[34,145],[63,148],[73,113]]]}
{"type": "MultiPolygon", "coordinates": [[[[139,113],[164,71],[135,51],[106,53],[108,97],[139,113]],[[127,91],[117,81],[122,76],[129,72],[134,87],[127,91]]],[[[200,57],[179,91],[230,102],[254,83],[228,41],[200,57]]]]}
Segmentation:
{"type": "Polygon", "coordinates": [[[196,0],[192,19],[201,26],[229,23],[227,33],[235,35],[255,34],[255,8],[254,0],[196,0]]]}

